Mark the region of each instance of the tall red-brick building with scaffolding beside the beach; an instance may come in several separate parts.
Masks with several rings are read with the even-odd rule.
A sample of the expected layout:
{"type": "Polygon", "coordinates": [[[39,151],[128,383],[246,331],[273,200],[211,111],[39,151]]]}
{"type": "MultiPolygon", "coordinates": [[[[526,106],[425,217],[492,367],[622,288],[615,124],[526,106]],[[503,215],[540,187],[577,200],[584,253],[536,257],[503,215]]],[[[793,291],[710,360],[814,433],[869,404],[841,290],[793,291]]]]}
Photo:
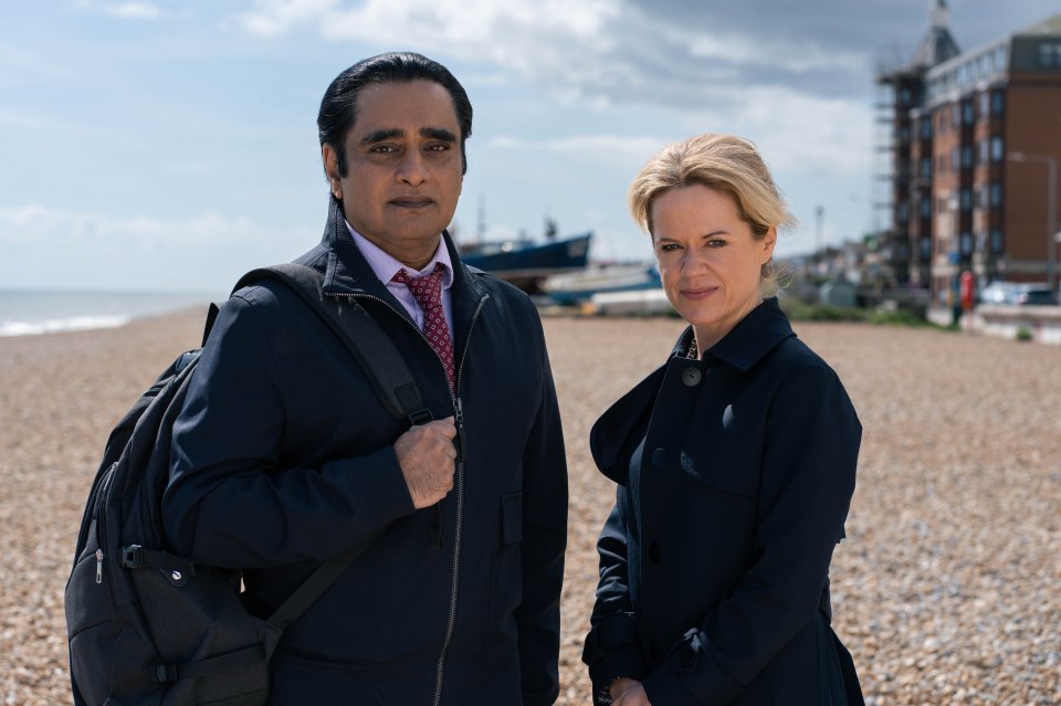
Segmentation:
{"type": "Polygon", "coordinates": [[[979,286],[1052,276],[1057,287],[1059,180],[1051,199],[1048,179],[1061,162],[1061,14],[962,52],[935,0],[913,59],[876,82],[889,278],[937,304],[966,270],[979,286]]]}

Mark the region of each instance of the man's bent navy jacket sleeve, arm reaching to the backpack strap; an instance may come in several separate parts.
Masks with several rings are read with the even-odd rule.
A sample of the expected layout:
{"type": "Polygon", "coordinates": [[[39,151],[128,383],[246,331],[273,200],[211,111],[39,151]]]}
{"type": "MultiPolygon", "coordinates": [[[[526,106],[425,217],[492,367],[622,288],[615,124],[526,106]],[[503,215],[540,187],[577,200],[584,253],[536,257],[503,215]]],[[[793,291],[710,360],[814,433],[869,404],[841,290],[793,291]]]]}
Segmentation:
{"type": "Polygon", "coordinates": [[[222,307],[174,425],[167,537],[193,561],[263,568],[324,560],[414,512],[392,446],[281,467],[284,392],[267,327],[222,307]]]}

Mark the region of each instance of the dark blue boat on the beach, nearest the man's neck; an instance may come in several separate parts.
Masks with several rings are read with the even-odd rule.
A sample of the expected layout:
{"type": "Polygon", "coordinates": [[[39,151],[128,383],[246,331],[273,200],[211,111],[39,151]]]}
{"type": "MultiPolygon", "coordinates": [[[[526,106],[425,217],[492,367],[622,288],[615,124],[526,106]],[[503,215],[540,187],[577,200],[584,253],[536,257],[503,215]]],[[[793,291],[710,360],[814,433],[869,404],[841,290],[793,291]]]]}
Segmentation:
{"type": "Polygon", "coordinates": [[[586,268],[592,233],[545,242],[530,239],[459,243],[461,261],[529,293],[540,291],[546,277],[586,268]]]}

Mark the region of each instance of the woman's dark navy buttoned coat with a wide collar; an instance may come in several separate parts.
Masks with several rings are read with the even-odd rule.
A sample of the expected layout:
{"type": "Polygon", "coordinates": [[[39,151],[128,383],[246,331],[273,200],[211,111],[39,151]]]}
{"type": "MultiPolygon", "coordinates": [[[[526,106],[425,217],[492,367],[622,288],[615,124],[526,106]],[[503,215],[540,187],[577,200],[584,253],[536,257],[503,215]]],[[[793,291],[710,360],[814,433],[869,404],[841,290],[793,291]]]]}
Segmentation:
{"type": "Polygon", "coordinates": [[[777,299],[703,360],[683,357],[691,338],[591,432],[618,484],[584,653],[595,696],[627,676],[660,706],[843,704],[828,576],[859,419],[777,299]]]}

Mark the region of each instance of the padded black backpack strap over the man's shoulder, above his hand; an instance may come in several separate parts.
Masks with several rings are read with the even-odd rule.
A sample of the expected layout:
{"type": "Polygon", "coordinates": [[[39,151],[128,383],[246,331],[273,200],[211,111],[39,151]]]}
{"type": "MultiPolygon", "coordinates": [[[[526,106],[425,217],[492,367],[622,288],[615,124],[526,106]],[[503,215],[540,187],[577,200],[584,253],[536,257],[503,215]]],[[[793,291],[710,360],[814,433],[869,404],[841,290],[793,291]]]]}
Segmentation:
{"type": "Polygon", "coordinates": [[[431,412],[423,405],[420,388],[413,381],[405,358],[364,306],[354,302],[349,314],[340,315],[337,307],[326,303],[321,294],[324,275],[297,263],[252,270],[240,278],[232,291],[266,278],[286,284],[339,337],[391,417],[408,419],[412,424],[431,421],[431,412]]]}

